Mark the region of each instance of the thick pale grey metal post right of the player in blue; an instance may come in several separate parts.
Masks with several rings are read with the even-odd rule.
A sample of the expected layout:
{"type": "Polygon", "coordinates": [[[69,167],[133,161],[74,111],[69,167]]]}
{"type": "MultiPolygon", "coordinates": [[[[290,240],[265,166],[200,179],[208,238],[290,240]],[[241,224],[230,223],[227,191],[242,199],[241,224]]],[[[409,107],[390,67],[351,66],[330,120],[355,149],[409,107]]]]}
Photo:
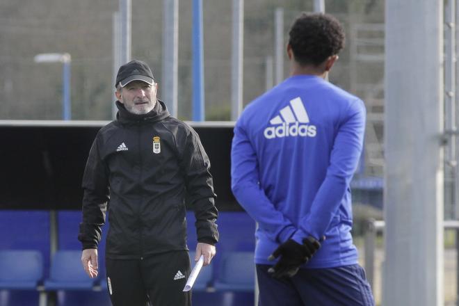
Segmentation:
{"type": "Polygon", "coordinates": [[[384,305],[444,303],[443,1],[385,3],[384,305]]]}

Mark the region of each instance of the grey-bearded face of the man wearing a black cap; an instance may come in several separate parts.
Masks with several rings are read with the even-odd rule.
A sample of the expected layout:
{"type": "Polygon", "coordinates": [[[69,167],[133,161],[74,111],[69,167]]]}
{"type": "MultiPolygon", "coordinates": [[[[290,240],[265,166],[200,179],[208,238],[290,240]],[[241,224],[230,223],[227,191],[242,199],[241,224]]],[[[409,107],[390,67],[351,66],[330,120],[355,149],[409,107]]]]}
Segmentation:
{"type": "Polygon", "coordinates": [[[157,84],[145,83],[143,81],[131,81],[124,86],[119,92],[116,91],[116,97],[129,113],[143,115],[150,112],[156,104],[157,84]]]}

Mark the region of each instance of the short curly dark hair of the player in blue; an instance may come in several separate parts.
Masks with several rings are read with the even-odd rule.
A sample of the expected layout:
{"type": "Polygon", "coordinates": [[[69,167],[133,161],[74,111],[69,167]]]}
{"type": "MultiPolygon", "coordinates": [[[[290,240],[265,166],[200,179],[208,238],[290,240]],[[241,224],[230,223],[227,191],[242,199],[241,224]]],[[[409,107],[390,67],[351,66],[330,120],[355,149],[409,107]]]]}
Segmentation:
{"type": "Polygon", "coordinates": [[[344,31],[338,20],[323,13],[302,13],[289,31],[289,45],[302,66],[318,66],[344,47],[344,31]]]}

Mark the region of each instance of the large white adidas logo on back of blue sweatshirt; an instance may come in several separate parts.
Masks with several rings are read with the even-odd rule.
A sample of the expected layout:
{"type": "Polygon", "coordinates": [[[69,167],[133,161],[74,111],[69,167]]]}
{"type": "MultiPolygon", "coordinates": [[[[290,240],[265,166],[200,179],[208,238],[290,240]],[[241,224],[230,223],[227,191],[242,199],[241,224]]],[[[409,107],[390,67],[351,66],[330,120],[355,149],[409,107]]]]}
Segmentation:
{"type": "Polygon", "coordinates": [[[282,137],[315,137],[317,127],[309,123],[303,101],[300,97],[290,100],[290,105],[280,110],[280,115],[269,120],[271,125],[277,127],[266,127],[264,136],[268,139],[282,137]]]}

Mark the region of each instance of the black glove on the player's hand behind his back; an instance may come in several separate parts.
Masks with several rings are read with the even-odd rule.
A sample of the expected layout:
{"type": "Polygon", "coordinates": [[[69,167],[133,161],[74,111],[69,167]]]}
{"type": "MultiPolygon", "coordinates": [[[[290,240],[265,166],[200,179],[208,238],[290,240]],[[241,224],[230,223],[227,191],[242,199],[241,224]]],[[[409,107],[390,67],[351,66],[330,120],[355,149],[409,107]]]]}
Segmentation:
{"type": "Polygon", "coordinates": [[[303,244],[289,239],[279,245],[273,254],[268,257],[268,260],[273,260],[280,256],[277,264],[268,269],[268,273],[271,273],[271,276],[277,279],[292,277],[298,272],[300,266],[311,259],[312,255],[320,247],[321,243],[312,236],[303,239],[303,244]]]}

